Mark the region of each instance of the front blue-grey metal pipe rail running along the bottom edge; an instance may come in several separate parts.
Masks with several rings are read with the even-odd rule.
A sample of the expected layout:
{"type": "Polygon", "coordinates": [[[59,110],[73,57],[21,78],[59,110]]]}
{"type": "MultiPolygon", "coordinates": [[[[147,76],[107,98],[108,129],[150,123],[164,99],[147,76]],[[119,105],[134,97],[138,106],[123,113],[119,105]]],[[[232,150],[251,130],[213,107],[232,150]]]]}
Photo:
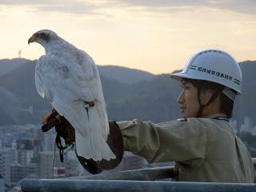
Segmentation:
{"type": "Polygon", "coordinates": [[[159,182],[124,180],[82,180],[82,179],[25,179],[23,192],[254,192],[256,184],[214,183],[214,182],[159,182]]]}

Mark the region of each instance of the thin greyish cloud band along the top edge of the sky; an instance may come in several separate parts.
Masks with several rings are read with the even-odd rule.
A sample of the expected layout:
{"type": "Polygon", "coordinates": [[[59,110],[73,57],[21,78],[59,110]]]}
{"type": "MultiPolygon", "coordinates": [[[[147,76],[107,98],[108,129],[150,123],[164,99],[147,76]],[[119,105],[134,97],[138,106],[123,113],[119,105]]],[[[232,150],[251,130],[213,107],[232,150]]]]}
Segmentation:
{"type": "Polygon", "coordinates": [[[199,7],[233,10],[243,14],[256,14],[254,0],[0,0],[0,6],[27,6],[36,11],[71,14],[103,14],[105,9],[142,7],[147,11],[184,11],[199,7]]]}

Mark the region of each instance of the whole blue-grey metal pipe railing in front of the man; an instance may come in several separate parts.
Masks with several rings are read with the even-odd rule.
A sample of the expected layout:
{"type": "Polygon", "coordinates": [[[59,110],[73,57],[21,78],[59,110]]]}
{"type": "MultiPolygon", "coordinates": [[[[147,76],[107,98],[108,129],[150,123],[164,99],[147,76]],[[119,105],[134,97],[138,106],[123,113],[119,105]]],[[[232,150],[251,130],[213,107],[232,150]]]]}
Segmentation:
{"type": "MultiPolygon", "coordinates": [[[[253,158],[256,168],[256,158],[253,158]]],[[[156,181],[174,177],[174,166],[142,170],[126,170],[108,174],[62,179],[24,179],[23,192],[114,192],[114,191],[203,191],[203,192],[250,192],[256,191],[256,183],[217,182],[166,182],[156,181]]]]}

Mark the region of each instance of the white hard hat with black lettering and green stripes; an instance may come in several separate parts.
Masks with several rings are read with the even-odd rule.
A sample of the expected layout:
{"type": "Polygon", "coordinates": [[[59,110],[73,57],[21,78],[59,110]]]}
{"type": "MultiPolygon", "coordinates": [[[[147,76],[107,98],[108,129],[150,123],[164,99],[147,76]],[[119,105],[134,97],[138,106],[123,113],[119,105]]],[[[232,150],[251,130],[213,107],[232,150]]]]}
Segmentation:
{"type": "MultiPolygon", "coordinates": [[[[170,77],[178,81],[191,78],[216,82],[242,94],[241,69],[234,58],[222,50],[209,49],[194,54],[182,72],[170,74],[170,77]]],[[[229,89],[224,91],[228,92],[229,89]]],[[[225,94],[230,97],[230,93],[225,94]]]]}

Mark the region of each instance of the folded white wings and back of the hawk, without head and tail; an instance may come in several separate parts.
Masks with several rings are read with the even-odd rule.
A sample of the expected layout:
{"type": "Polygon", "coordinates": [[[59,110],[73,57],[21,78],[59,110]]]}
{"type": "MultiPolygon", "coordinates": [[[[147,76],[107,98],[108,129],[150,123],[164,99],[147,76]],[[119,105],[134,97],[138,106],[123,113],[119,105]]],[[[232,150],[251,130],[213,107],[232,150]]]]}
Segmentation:
{"type": "MultiPolygon", "coordinates": [[[[100,122],[102,125],[106,124],[105,102],[98,70],[92,58],[83,51],[78,50],[75,56],[70,53],[62,55],[48,53],[42,56],[36,66],[35,82],[38,93],[49,99],[55,110],[64,115],[72,126],[79,127],[76,124],[80,124],[80,126],[82,123],[83,126],[87,124],[80,120],[86,119],[83,117],[86,114],[86,109],[84,109],[84,115],[78,114],[79,111],[76,112],[77,108],[81,108],[80,102],[83,101],[100,102],[102,104],[99,106],[102,108],[99,109],[100,122]]],[[[106,138],[109,134],[108,123],[107,126],[102,127],[104,127],[102,132],[106,138]]],[[[86,134],[86,129],[78,131],[81,131],[81,134],[86,134]]]]}

